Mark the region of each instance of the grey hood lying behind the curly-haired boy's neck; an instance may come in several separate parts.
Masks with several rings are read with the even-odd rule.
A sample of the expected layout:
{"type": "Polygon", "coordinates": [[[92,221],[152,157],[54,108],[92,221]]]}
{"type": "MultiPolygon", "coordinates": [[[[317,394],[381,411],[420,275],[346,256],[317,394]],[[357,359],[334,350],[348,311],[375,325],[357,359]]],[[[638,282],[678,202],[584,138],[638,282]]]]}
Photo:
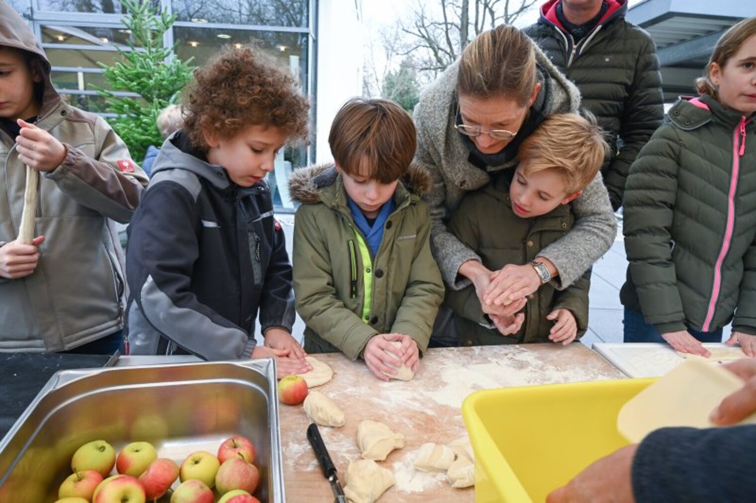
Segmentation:
{"type": "Polygon", "coordinates": [[[231,181],[223,167],[210,164],[203,158],[198,150],[191,147],[187,135],[181,130],[176,131],[163,142],[163,147],[160,147],[160,153],[152,165],[152,176],[154,177],[158,171],[183,169],[205,178],[219,190],[231,187],[231,181]]]}

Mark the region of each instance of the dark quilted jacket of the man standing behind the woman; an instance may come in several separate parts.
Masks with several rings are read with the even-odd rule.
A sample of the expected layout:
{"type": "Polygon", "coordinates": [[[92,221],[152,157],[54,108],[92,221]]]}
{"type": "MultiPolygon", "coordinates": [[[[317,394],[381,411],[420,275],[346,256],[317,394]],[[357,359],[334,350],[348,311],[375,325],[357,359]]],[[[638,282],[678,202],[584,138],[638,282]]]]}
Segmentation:
{"type": "Polygon", "coordinates": [[[662,76],[656,48],[648,33],[624,19],[627,0],[607,0],[608,9],[599,23],[577,42],[556,17],[559,2],[549,0],[542,5],[538,23],[524,31],[575,82],[581,106],[606,131],[610,148],[601,173],[616,210],[622,204],[631,164],[662,125],[662,76]]]}

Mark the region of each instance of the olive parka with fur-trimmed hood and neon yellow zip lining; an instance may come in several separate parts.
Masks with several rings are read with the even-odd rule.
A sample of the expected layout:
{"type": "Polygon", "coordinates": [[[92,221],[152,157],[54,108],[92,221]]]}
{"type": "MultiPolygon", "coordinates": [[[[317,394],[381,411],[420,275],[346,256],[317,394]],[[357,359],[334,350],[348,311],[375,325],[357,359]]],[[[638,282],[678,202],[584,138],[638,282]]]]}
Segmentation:
{"type": "Polygon", "coordinates": [[[294,296],[308,351],[341,351],[356,360],[367,341],[383,333],[409,335],[421,352],[428,347],[444,295],[430,252],[428,208],[417,195],[428,174],[412,165],[403,182],[370,257],[335,168],[294,172],[290,193],[302,203],[294,223],[294,296]]]}

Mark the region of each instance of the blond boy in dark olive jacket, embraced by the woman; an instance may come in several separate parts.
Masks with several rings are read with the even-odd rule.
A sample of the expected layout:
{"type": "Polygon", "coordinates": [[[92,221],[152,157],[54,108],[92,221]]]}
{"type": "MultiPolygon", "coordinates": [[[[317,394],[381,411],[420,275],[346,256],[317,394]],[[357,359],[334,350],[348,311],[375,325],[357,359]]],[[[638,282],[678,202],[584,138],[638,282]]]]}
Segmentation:
{"type": "Polygon", "coordinates": [[[516,170],[502,171],[463,199],[448,229],[480,256],[481,274],[496,281],[508,265],[529,263],[542,284],[509,318],[488,316],[473,285],[448,292],[462,345],[569,344],[587,330],[590,271],[559,291],[539,273],[537,258],[572,229],[571,203],[596,176],[605,152],[592,120],[554,114],[522,142],[516,170]]]}

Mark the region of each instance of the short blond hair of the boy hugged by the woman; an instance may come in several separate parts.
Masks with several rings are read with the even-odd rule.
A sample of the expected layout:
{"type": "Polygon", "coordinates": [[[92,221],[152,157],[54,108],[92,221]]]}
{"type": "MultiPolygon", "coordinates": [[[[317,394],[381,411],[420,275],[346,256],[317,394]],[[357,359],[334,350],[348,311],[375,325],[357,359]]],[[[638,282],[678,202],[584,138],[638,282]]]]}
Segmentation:
{"type": "Polygon", "coordinates": [[[520,143],[517,155],[523,174],[553,170],[562,175],[565,190],[575,194],[596,177],[609,146],[590,113],[547,116],[520,143]]]}

